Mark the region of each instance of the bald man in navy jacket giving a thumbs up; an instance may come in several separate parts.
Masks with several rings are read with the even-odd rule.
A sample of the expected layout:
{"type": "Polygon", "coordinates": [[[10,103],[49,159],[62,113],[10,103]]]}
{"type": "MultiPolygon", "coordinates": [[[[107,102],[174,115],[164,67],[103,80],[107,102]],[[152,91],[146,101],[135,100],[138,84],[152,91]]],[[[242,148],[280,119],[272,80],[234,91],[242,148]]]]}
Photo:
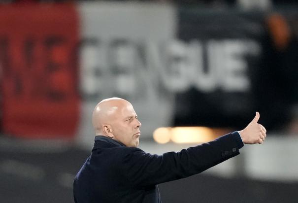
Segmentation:
{"type": "Polygon", "coordinates": [[[157,184],[185,178],[239,154],[245,144],[263,143],[260,114],[239,132],[162,156],[137,148],[141,123],[132,104],[120,98],[99,102],[93,112],[92,154],[75,176],[75,203],[161,203],[157,184]]]}

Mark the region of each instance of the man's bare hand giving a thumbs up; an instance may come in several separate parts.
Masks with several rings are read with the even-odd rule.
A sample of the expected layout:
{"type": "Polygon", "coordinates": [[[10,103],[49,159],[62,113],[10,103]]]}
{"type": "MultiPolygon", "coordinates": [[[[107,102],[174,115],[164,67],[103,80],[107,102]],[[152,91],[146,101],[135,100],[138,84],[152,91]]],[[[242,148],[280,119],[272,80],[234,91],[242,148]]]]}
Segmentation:
{"type": "Polygon", "coordinates": [[[246,126],[245,129],[239,131],[243,143],[245,144],[262,144],[266,137],[266,129],[258,123],[260,113],[256,112],[255,118],[246,126]]]}

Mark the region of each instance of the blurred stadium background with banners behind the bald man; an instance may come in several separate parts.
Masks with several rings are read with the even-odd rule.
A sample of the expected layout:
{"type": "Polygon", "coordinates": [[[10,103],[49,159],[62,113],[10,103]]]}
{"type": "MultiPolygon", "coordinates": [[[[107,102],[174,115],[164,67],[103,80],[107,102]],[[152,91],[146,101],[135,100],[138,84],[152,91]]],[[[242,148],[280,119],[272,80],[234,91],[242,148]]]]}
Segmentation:
{"type": "Polygon", "coordinates": [[[109,97],[152,154],[260,112],[264,144],[160,184],[163,203],[298,202],[296,0],[1,0],[0,79],[0,203],[72,203],[109,97]]]}

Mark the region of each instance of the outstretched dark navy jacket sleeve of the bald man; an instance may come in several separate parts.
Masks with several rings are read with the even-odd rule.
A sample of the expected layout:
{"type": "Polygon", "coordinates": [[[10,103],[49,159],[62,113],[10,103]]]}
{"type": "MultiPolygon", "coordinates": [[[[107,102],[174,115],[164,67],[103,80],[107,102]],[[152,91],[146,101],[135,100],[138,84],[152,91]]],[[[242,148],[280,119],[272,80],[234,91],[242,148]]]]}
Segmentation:
{"type": "Polygon", "coordinates": [[[238,132],[162,156],[131,147],[130,153],[125,153],[121,171],[132,185],[146,187],[200,173],[238,155],[241,147],[238,132]]]}

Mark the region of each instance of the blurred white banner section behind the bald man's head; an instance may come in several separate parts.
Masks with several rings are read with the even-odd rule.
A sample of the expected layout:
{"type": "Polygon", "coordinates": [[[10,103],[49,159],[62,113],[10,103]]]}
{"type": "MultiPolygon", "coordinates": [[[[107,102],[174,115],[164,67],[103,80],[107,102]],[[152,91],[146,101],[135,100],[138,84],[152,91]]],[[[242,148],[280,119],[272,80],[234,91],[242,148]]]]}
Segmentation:
{"type": "Polygon", "coordinates": [[[102,99],[121,97],[132,102],[142,122],[141,137],[170,125],[173,93],[166,91],[160,69],[161,50],[174,39],[175,9],[160,4],[82,3],[80,91],[83,97],[78,141],[92,145],[91,122],[102,99]]]}

